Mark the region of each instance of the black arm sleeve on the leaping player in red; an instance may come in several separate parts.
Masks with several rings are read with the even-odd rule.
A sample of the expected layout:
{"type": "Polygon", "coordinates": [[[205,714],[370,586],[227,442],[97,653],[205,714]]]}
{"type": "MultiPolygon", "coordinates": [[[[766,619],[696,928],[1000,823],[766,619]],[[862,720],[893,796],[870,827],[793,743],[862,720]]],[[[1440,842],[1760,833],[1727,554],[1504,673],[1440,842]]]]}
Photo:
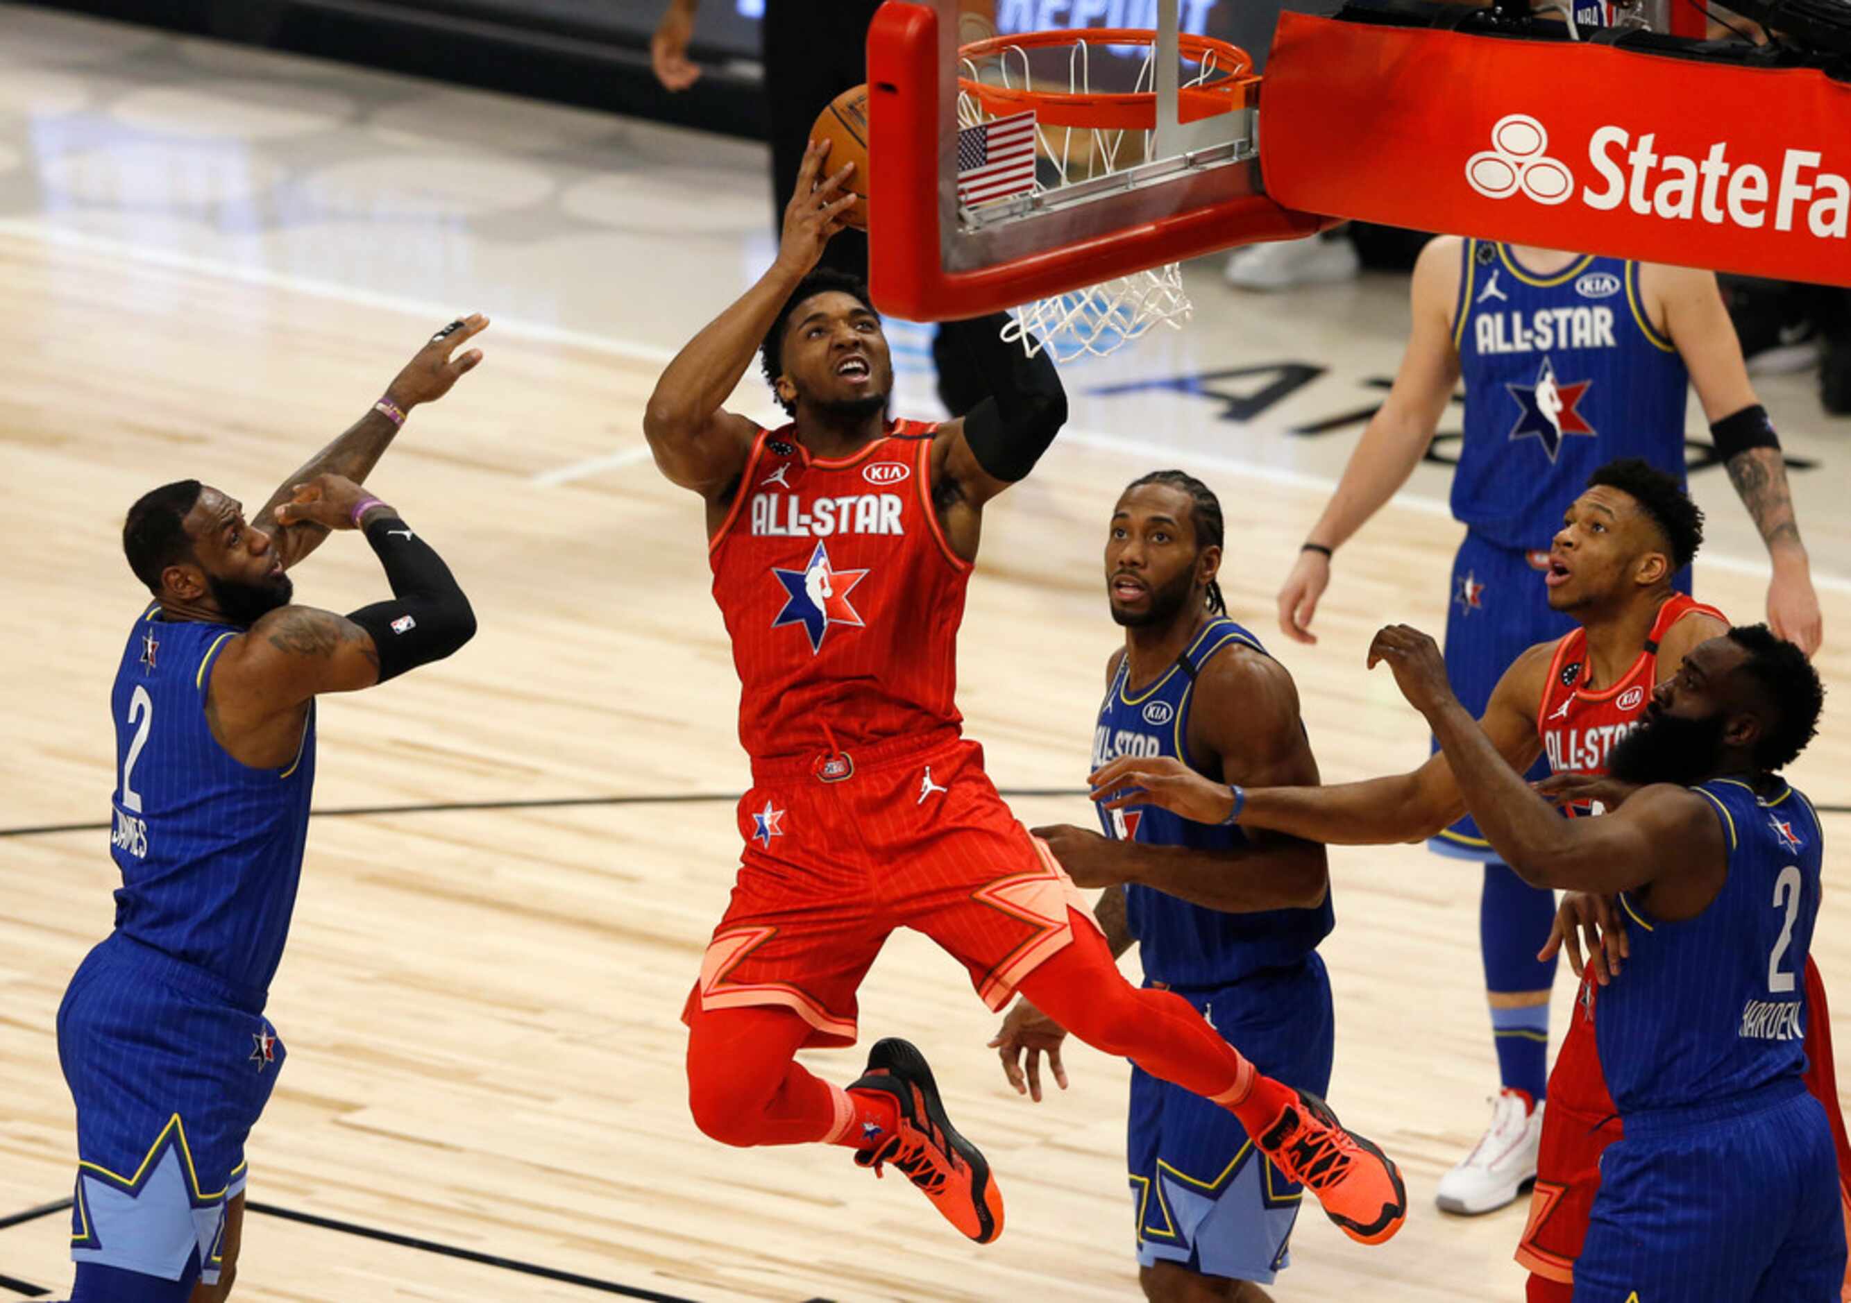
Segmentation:
{"type": "Polygon", "coordinates": [[[946,322],[938,329],[981,379],[988,398],[964,413],[964,442],[996,479],[1027,476],[1066,424],[1066,391],[1046,350],[1029,357],[1001,337],[1007,313],[946,322]]]}

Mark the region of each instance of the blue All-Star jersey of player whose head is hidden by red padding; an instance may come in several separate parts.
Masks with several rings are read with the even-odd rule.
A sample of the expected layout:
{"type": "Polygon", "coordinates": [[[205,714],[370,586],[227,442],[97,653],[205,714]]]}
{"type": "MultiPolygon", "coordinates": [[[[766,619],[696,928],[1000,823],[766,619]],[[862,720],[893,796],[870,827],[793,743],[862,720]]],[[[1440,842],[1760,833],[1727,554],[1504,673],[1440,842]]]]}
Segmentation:
{"type": "Polygon", "coordinates": [[[1616,457],[1684,479],[1690,372],[1646,315],[1638,263],[1590,255],[1536,276],[1509,246],[1466,241],[1453,342],[1466,383],[1453,516],[1488,542],[1547,548],[1616,457]]]}

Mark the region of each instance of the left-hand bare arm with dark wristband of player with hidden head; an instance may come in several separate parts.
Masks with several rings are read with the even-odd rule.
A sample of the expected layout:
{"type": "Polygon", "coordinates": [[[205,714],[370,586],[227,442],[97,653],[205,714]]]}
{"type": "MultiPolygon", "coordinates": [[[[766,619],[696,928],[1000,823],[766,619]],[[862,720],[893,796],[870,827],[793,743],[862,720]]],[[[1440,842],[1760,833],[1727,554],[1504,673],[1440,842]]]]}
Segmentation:
{"type": "Polygon", "coordinates": [[[1316,642],[1311,618],[1331,583],[1331,553],[1349,542],[1370,516],[1381,511],[1420,465],[1440,415],[1459,383],[1459,350],[1453,346],[1453,300],[1459,296],[1459,239],[1442,235],[1427,242],[1414,263],[1414,326],[1401,354],[1388,398],[1370,416],[1362,441],[1349,453],[1336,492],[1305,535],[1292,574],[1279,589],[1279,627],[1298,642],[1316,642]]]}

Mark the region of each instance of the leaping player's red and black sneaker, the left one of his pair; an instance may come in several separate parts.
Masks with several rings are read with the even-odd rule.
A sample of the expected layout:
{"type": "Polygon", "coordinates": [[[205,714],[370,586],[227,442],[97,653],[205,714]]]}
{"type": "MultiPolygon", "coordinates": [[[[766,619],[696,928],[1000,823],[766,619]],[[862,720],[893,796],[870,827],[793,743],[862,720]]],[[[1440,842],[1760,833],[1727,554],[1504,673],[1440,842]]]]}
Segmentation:
{"type": "Polygon", "coordinates": [[[866,1073],[850,1090],[885,1090],[900,1105],[898,1133],[876,1138],[855,1153],[855,1162],[874,1168],[874,1175],[892,1162],[946,1222],[977,1244],[1003,1233],[1003,1196],[990,1179],[990,1164],[944,1116],[926,1055],[907,1040],[876,1040],[866,1073]]]}

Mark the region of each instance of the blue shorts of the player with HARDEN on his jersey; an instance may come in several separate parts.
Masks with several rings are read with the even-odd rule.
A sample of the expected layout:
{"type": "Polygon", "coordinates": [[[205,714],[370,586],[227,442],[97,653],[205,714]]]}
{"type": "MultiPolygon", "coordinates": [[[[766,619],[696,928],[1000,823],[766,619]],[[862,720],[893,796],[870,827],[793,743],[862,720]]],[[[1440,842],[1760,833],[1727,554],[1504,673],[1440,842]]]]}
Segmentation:
{"type": "Polygon", "coordinates": [[[1838,1151],[1799,1081],[1627,1114],[1601,1155],[1575,1303],[1838,1303],[1838,1151]]]}

